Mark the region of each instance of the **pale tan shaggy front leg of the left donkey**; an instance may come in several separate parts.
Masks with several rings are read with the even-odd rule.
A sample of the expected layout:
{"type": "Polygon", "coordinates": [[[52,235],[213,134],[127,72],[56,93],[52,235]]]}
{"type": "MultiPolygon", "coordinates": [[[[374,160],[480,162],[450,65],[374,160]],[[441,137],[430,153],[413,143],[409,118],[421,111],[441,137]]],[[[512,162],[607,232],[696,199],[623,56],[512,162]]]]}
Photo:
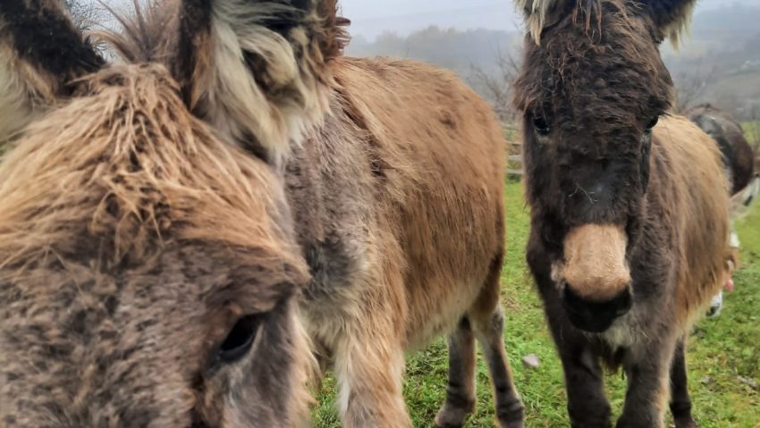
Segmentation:
{"type": "MultiPolygon", "coordinates": [[[[376,325],[369,320],[362,323],[376,325]]],[[[336,349],[334,364],[342,426],[411,428],[401,392],[404,367],[401,344],[394,345],[388,338],[346,336],[336,349]]]]}

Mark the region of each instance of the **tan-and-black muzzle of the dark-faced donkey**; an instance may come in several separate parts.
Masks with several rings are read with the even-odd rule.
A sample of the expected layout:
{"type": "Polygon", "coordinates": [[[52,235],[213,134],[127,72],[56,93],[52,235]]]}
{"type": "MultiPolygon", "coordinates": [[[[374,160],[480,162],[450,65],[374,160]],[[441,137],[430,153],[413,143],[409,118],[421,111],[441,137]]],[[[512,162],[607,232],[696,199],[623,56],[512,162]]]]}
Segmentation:
{"type": "Polygon", "coordinates": [[[633,306],[627,235],[616,225],[586,224],[568,233],[564,259],[552,277],[562,306],[575,327],[606,331],[633,306]]]}

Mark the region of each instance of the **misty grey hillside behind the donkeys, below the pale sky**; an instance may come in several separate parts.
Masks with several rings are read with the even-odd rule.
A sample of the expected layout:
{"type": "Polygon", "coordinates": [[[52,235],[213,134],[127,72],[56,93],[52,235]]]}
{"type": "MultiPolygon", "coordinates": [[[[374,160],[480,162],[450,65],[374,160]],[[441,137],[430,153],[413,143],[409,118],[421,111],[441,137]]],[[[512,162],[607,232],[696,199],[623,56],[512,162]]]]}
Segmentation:
{"type": "MultiPolygon", "coordinates": [[[[711,102],[741,120],[760,119],[760,6],[721,5],[697,13],[691,36],[680,52],[663,44],[663,58],[681,88],[697,88],[690,103],[711,102]]],[[[482,76],[499,79],[497,58],[519,58],[522,36],[491,29],[443,29],[431,26],[401,37],[386,32],[368,42],[355,38],[347,49],[353,56],[414,58],[456,71],[484,96],[482,76]]],[[[503,98],[503,97],[500,97],[503,98]]]]}

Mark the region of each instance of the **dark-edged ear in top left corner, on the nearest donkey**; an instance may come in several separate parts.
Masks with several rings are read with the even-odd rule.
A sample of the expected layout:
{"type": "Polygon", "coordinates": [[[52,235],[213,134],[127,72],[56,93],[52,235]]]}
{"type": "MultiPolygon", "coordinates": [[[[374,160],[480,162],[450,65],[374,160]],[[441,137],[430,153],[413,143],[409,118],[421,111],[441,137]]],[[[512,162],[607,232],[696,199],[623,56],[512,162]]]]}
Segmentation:
{"type": "Polygon", "coordinates": [[[104,63],[58,0],[0,1],[0,143],[104,63]]]}

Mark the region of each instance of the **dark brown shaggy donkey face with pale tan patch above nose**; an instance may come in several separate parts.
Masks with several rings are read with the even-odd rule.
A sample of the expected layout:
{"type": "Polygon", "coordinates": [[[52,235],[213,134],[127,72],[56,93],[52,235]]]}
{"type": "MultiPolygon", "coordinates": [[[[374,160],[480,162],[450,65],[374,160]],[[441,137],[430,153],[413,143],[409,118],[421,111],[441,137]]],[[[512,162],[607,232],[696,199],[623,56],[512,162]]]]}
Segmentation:
{"type": "Polygon", "coordinates": [[[520,2],[533,32],[516,88],[528,198],[570,320],[587,331],[632,305],[652,129],[672,91],[658,46],[690,3],[520,2]]]}

